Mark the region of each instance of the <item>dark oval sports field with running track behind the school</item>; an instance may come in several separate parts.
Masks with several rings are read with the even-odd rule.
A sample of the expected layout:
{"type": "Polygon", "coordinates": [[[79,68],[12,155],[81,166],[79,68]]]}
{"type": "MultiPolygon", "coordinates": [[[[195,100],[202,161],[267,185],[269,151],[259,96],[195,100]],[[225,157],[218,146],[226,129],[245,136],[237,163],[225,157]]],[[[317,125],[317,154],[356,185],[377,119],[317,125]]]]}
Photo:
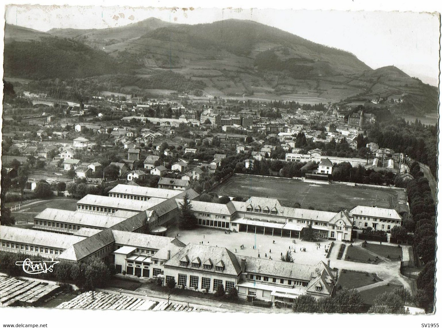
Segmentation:
{"type": "Polygon", "coordinates": [[[277,198],[280,201],[298,202],[303,208],[313,206],[315,209],[324,207],[352,209],[357,205],[397,209],[398,197],[400,199],[404,197],[402,190],[344,184],[320,185],[252,175],[232,176],[217,186],[213,192],[232,197],[277,198]]]}

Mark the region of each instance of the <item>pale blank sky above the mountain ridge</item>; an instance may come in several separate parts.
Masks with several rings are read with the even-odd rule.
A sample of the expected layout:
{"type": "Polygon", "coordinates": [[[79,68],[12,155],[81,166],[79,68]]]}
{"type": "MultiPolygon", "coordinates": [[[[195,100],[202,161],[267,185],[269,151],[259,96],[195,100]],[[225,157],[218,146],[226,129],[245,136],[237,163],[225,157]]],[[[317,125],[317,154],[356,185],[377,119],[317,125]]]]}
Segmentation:
{"type": "MultiPolygon", "coordinates": [[[[88,3],[93,4],[92,1],[88,3]]],[[[255,7],[255,6],[254,6],[255,7]]],[[[68,7],[10,5],[6,22],[47,31],[52,28],[108,28],[156,17],[197,24],[249,19],[310,41],[352,52],[373,69],[394,65],[437,86],[440,26],[437,14],[399,11],[343,11],[156,7],[68,7]]],[[[248,7],[250,8],[250,7],[248,7]]]]}

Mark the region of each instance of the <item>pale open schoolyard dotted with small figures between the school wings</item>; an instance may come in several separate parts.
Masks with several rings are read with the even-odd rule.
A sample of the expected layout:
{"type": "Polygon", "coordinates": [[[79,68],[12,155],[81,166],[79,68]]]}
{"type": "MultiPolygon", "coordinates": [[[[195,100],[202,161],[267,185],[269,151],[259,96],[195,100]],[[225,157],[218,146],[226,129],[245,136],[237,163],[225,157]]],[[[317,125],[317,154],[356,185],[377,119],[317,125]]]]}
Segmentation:
{"type": "Polygon", "coordinates": [[[178,239],[186,244],[203,242],[204,245],[225,247],[234,253],[236,249],[236,254],[252,257],[258,257],[259,254],[260,257],[265,258],[267,253],[267,258],[271,257],[275,261],[281,261],[281,253],[285,255],[290,246],[295,263],[310,265],[316,265],[319,261],[327,263],[324,246],[328,247],[331,243],[329,240],[321,239],[318,249],[315,242],[303,242],[299,239],[281,236],[255,235],[247,232],[231,232],[227,235],[224,230],[203,227],[191,231],[173,228],[168,232],[168,237],[175,237],[178,234],[178,239]],[[293,240],[296,241],[295,244],[293,240]],[[241,250],[240,246],[243,244],[244,250],[241,250]],[[255,248],[253,248],[254,246],[255,248]],[[305,252],[301,252],[300,248],[304,247],[305,252]]]}

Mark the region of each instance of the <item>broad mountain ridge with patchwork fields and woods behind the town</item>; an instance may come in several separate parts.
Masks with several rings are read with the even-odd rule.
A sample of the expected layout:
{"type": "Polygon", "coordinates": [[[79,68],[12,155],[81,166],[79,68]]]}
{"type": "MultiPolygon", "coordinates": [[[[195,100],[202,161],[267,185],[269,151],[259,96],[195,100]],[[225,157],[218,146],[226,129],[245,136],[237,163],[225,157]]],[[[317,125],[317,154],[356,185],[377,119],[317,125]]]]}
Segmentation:
{"type": "MultiPolygon", "coordinates": [[[[82,63],[77,63],[77,71],[81,73],[74,74],[76,71],[73,71],[74,78],[81,78],[81,74],[87,77],[114,71],[134,75],[137,79],[149,79],[168,70],[198,82],[196,85],[202,88],[198,94],[212,97],[246,94],[264,99],[288,97],[337,102],[361,97],[370,100],[411,95],[409,98],[419,98],[419,101],[431,96],[423,111],[429,111],[429,107],[434,108],[432,110],[437,108],[437,88],[423,86],[418,79],[411,78],[397,67],[391,65],[373,70],[351,52],[320,45],[250,20],[229,19],[188,25],[150,18],[97,30],[52,29],[43,33],[5,29],[8,43],[14,40],[19,44],[33,37],[35,42],[50,40],[59,44],[63,39],[77,42],[78,47],[86,45],[95,52],[89,48],[84,51],[108,63],[108,67],[94,71],[85,70],[82,63]],[[15,39],[14,35],[7,35],[11,30],[17,34],[15,39]]],[[[5,45],[5,53],[6,48],[5,45]]],[[[61,65],[70,66],[69,62],[63,63],[63,56],[59,53],[65,49],[49,48],[61,65]]],[[[5,74],[18,76],[6,65],[5,74]]],[[[26,72],[19,74],[30,78],[23,76],[26,72]]],[[[58,77],[46,72],[42,74],[46,78],[58,77]]],[[[121,88],[133,89],[133,84],[128,82],[130,78],[118,80],[125,83],[121,88]]],[[[152,83],[140,80],[138,85],[140,88],[152,83]]],[[[167,86],[167,83],[161,85],[167,86]]],[[[418,110],[419,101],[414,101],[418,110]]]]}

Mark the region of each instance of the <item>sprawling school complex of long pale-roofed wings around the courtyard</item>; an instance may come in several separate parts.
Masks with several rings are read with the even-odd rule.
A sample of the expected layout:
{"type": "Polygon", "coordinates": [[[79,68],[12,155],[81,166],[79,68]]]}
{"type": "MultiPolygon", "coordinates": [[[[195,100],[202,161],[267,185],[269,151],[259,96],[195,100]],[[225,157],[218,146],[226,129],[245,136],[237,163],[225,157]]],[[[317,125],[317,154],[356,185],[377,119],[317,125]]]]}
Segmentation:
{"type": "Polygon", "coordinates": [[[79,262],[97,256],[118,273],[145,278],[172,277],[178,286],[200,291],[237,288],[241,298],[292,302],[301,294],[331,296],[336,272],[317,265],[239,256],[224,247],[184,244],[167,237],[187,194],[198,225],[226,231],[301,239],[311,224],[324,239],[351,241],[354,228],[388,231],[402,218],[393,209],[356,206],[350,212],[325,212],[282,206],[277,199],[251,197],[217,204],[198,201],[189,189],[164,190],[118,185],[109,196],[87,195],[76,211],[45,209],[34,229],[1,227],[0,251],[21,252],[79,262]]]}

